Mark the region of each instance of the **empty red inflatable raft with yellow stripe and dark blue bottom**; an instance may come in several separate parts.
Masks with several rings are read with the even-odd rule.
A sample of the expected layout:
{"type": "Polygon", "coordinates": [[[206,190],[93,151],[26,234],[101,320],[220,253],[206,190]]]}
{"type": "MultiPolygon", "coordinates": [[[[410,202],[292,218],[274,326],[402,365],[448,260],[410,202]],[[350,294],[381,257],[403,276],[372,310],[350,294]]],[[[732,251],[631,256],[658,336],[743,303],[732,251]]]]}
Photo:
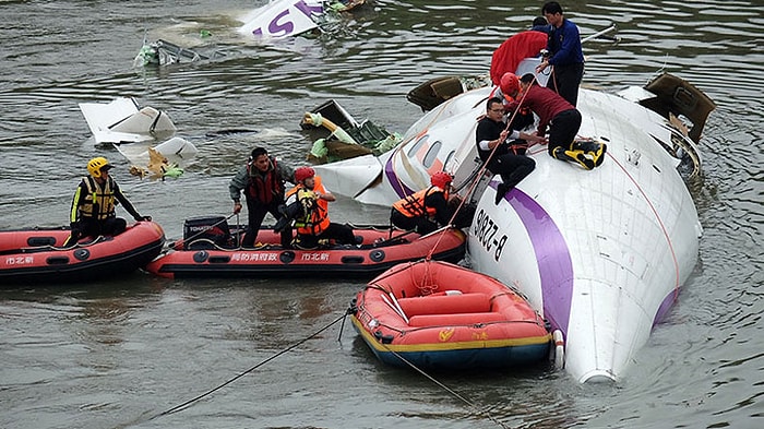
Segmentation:
{"type": "Polygon", "coordinates": [[[394,266],[350,306],[353,325],[389,365],[474,370],[538,362],[551,334],[516,290],[439,261],[394,266]]]}

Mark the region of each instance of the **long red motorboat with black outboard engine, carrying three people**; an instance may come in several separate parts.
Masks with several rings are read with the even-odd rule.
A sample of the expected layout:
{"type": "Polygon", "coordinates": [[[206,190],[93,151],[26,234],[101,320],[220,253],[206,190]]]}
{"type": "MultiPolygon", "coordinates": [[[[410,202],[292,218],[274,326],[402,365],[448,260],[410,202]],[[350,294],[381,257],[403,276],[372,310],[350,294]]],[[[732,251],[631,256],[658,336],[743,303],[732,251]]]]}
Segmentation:
{"type": "Polygon", "coordinates": [[[284,249],[279,235],[262,228],[255,248],[237,247],[243,226],[228,227],[225,217],[188,219],[184,239],[146,265],[168,277],[367,276],[408,261],[432,259],[458,262],[465,235],[445,229],[421,237],[387,226],[354,226],[357,246],[326,243],[317,249],[284,249]]]}

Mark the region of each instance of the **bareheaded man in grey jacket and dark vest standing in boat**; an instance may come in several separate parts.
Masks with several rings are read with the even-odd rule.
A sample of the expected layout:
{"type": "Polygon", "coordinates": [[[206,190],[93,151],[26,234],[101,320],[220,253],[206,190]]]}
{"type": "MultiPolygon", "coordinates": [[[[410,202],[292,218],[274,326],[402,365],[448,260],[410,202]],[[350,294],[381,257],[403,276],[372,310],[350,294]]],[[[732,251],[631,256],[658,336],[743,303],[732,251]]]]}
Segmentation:
{"type": "MultiPolygon", "coordinates": [[[[268,156],[264,147],[255,147],[247,165],[241,167],[228,186],[234,200],[234,214],[241,212],[241,191],[247,198],[247,233],[242,248],[254,247],[254,240],[267,213],[276,219],[282,217],[278,206],[284,204],[284,183],[293,181],[291,168],[268,156]]],[[[291,228],[282,230],[282,246],[291,247],[291,228]]]]}

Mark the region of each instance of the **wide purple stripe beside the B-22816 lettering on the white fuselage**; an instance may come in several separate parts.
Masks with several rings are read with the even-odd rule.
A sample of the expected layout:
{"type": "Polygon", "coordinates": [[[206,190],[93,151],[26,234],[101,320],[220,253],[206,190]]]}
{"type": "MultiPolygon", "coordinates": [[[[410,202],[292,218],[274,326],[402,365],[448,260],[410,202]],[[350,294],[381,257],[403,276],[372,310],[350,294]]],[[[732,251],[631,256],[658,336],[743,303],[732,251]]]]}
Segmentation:
{"type": "MultiPolygon", "coordinates": [[[[492,188],[497,184],[498,182],[491,182],[492,188]]],[[[515,188],[504,200],[510,202],[525,225],[536,252],[541,277],[544,317],[568,337],[573,297],[573,262],[565,239],[549,213],[523,191],[515,188]]]]}

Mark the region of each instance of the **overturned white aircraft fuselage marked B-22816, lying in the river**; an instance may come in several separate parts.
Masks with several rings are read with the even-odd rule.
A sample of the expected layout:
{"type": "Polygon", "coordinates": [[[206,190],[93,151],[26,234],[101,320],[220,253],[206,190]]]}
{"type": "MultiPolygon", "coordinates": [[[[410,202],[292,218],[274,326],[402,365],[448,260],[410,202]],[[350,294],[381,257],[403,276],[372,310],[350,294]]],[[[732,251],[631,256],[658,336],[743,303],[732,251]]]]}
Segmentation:
{"type": "MultiPolygon", "coordinates": [[[[367,203],[392,204],[442,169],[454,174],[455,183],[467,182],[464,194],[475,181],[467,180],[470,172],[480,168],[476,119],[490,91],[438,106],[377,164],[348,159],[317,170],[331,189],[345,188],[367,203]],[[362,166],[356,167],[365,171],[360,181],[370,186],[353,189],[353,174],[342,171],[354,164],[362,166]],[[369,180],[379,174],[383,180],[369,180]]],[[[478,175],[468,257],[474,270],[522,290],[562,331],[573,378],[614,380],[693,270],[702,228],[678,160],[656,142],[679,135],[660,116],[589,90],[581,90],[577,108],[580,135],[608,145],[604,164],[587,171],[534,146],[536,169],[498,205],[501,179],[478,175]]]]}

